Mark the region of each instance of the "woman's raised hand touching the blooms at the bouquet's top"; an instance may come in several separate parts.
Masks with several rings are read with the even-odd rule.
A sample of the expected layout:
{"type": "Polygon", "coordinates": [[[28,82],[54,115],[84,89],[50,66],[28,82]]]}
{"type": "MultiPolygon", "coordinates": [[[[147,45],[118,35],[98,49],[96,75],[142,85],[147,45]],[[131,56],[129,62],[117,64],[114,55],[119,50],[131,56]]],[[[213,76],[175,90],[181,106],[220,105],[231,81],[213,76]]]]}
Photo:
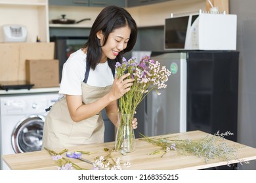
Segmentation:
{"type": "Polygon", "coordinates": [[[111,98],[113,100],[117,100],[120,97],[122,97],[126,92],[131,90],[131,86],[133,85],[133,78],[125,79],[129,76],[130,74],[127,73],[123,76],[120,76],[117,78],[117,76],[114,79],[112,89],[110,91],[111,98]]]}

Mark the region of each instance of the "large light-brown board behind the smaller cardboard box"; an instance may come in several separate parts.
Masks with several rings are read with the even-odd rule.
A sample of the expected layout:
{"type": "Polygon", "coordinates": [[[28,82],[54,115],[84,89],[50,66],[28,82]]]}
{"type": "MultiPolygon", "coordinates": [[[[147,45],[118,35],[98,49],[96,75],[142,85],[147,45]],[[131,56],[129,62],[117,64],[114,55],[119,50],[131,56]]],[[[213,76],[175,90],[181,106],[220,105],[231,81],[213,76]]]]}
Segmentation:
{"type": "Polygon", "coordinates": [[[0,82],[26,80],[26,59],[54,59],[54,42],[0,43],[0,82]]]}

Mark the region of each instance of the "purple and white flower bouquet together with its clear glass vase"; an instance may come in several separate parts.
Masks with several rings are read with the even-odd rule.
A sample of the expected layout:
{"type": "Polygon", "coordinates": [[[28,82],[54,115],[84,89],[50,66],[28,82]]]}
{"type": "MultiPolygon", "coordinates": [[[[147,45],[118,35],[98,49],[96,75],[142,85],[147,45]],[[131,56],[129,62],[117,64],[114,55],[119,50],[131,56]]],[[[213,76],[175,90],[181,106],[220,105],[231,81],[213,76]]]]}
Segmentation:
{"type": "MultiPolygon", "coordinates": [[[[132,127],[133,115],[139,103],[152,90],[158,92],[161,88],[166,88],[165,82],[171,72],[160,66],[159,61],[144,56],[137,63],[136,58],[128,61],[123,58],[122,63],[116,63],[117,77],[130,73],[130,78],[134,78],[131,90],[119,99],[119,124],[116,133],[115,149],[119,152],[133,152],[135,150],[135,135],[132,127]]],[[[160,92],[158,92],[160,95],[160,92]]]]}

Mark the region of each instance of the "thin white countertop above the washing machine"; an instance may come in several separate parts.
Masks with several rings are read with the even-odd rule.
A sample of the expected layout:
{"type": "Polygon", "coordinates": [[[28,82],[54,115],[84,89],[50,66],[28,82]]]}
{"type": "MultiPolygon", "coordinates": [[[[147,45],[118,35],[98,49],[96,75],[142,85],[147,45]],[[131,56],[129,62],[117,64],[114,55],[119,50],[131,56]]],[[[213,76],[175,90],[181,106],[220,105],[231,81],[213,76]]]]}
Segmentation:
{"type": "Polygon", "coordinates": [[[12,94],[30,94],[30,93],[47,93],[47,92],[58,92],[60,90],[59,87],[55,88],[31,88],[28,89],[20,89],[20,90],[0,90],[0,95],[12,95],[12,94]]]}

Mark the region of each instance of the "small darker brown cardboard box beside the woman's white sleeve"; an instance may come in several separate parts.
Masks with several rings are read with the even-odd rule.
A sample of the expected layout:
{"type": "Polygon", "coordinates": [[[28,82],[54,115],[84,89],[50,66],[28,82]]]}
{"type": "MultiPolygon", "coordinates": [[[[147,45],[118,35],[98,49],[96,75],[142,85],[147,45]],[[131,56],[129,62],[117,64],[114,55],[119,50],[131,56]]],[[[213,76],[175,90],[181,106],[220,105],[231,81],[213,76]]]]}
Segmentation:
{"type": "Polygon", "coordinates": [[[35,84],[33,88],[59,86],[58,59],[27,59],[26,81],[35,84]]]}

